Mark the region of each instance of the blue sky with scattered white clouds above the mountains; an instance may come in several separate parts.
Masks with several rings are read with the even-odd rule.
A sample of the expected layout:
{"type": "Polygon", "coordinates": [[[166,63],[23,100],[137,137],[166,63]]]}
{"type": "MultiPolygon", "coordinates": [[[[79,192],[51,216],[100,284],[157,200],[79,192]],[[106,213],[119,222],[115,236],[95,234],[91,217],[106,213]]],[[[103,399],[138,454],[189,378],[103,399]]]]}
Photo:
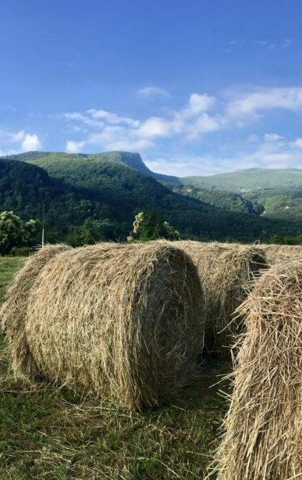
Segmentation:
{"type": "Polygon", "coordinates": [[[0,154],[302,168],[300,0],[0,2],[0,154]]]}

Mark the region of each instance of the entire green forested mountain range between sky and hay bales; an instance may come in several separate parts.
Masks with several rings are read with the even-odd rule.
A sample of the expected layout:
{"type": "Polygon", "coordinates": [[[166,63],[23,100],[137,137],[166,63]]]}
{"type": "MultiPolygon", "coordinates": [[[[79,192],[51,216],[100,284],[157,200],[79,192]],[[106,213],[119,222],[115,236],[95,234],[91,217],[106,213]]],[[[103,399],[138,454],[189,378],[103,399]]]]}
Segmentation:
{"type": "Polygon", "coordinates": [[[178,178],[149,170],[139,154],[119,151],[33,151],[0,159],[0,210],[41,219],[43,209],[49,241],[67,239],[88,218],[104,223],[104,239],[123,240],[135,214],[148,208],[161,211],[183,238],[295,236],[302,226],[301,194],[302,171],[178,178]]]}

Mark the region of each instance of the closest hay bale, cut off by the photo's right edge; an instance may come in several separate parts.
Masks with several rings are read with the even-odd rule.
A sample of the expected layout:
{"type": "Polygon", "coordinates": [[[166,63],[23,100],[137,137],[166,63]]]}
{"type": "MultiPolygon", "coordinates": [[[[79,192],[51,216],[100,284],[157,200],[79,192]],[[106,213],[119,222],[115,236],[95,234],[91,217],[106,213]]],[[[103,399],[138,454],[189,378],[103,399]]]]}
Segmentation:
{"type": "Polygon", "coordinates": [[[218,480],[302,479],[302,263],[268,270],[241,314],[218,480]]]}

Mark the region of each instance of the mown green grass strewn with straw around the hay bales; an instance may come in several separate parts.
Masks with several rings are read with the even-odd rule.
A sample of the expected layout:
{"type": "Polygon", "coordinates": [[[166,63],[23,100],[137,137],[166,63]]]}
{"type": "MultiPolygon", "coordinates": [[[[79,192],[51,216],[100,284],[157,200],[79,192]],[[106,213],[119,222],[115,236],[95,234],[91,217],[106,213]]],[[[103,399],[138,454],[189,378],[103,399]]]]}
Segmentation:
{"type": "MultiPolygon", "coordinates": [[[[0,289],[24,259],[0,258],[0,289]]],[[[203,361],[172,406],[132,414],[66,389],[25,388],[0,342],[0,480],[203,479],[226,401],[230,365],[203,361]]]]}

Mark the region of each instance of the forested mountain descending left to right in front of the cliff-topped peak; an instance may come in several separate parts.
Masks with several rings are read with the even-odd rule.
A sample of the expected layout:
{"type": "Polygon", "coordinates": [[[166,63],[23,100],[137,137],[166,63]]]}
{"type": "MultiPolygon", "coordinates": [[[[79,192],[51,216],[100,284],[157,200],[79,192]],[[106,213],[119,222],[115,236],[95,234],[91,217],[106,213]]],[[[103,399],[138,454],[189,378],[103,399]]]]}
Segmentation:
{"type": "Polygon", "coordinates": [[[264,219],[255,214],[225,211],[175,193],[161,183],[104,156],[37,154],[31,164],[0,160],[0,210],[41,219],[45,206],[49,239],[64,240],[77,226],[92,218],[106,224],[105,239],[124,239],[134,215],[148,208],[163,218],[181,236],[199,239],[254,241],[273,234],[293,234],[297,224],[264,219]]]}

